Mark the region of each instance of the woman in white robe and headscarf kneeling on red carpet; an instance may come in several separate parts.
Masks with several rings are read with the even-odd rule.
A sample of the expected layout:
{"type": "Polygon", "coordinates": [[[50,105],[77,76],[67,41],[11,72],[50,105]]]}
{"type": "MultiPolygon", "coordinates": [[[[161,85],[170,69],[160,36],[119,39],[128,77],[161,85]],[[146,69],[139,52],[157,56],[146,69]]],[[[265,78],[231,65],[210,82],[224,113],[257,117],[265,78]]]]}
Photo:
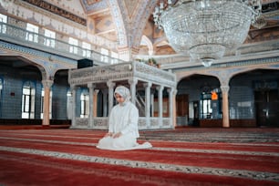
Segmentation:
{"type": "Polygon", "coordinates": [[[109,132],[98,141],[102,150],[138,150],[152,147],[149,142],[137,143],[139,109],[130,102],[129,88],[119,86],[114,91],[119,102],[109,114],[109,132]]]}

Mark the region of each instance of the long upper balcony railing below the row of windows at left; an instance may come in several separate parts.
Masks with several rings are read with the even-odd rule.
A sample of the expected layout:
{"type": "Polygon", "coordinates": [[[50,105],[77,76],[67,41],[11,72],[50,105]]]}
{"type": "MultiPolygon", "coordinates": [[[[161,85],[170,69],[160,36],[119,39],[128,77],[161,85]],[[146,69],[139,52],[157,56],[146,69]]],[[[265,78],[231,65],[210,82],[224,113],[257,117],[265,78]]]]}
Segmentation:
{"type": "Polygon", "coordinates": [[[90,57],[87,58],[92,59],[95,64],[99,65],[123,62],[118,58],[102,55],[97,51],[88,50],[83,47],[73,46],[68,44],[67,42],[40,35],[34,32],[29,32],[22,27],[8,25],[3,22],[0,22],[0,39],[20,46],[32,47],[41,51],[49,52],[51,54],[57,54],[62,57],[73,58],[76,60],[85,58],[84,53],[89,53],[90,57]],[[48,45],[46,45],[46,43],[48,43],[48,45]],[[74,54],[72,52],[69,52],[70,47],[77,48],[77,53],[74,54]]]}

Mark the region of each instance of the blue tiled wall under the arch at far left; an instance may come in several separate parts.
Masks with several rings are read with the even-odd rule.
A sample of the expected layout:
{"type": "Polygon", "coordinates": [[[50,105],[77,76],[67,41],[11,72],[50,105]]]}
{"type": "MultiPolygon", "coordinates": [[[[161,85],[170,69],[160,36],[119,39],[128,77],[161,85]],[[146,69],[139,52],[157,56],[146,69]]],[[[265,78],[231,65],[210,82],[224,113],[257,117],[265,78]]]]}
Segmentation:
{"type": "MultiPolygon", "coordinates": [[[[42,83],[39,73],[28,74],[20,68],[0,66],[0,78],[3,81],[0,118],[22,118],[22,88],[26,81],[31,81],[36,88],[35,119],[40,119],[42,83]]],[[[67,85],[52,86],[52,119],[67,119],[67,88],[67,85]]]]}

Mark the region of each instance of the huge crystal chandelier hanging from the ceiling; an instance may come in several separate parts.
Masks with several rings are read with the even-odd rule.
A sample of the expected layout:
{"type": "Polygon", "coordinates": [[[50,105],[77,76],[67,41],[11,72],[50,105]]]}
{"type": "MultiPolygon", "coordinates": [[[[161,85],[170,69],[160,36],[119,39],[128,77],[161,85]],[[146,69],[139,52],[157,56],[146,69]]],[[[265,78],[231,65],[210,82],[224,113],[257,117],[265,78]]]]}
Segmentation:
{"type": "Polygon", "coordinates": [[[210,67],[243,44],[261,7],[261,0],[168,0],[153,17],[177,53],[210,67]]]}

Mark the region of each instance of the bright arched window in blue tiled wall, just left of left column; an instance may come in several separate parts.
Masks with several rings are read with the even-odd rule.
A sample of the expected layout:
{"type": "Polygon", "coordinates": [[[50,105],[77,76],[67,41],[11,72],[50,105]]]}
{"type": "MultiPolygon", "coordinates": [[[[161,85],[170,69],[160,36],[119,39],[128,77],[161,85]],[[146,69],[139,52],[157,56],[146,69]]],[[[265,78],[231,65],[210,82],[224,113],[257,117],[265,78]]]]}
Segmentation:
{"type": "Polygon", "coordinates": [[[22,89],[22,119],[35,118],[35,85],[27,81],[22,89]]]}

